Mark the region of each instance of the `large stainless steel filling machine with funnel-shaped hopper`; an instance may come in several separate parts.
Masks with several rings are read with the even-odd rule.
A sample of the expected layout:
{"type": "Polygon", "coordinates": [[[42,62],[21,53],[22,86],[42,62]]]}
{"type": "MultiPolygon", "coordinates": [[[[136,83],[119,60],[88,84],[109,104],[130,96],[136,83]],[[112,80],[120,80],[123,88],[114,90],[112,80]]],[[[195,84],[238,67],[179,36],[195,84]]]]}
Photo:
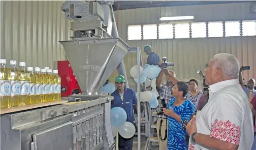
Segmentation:
{"type": "MultiPolygon", "coordinates": [[[[83,91],[69,96],[69,102],[89,102],[1,115],[1,150],[111,150],[115,147],[110,123],[113,98],[99,95],[98,91],[116,69],[125,76],[129,87],[123,59],[132,48],[118,37],[112,5],[113,1],[70,0],[61,7],[66,18],[73,20],[73,37],[60,43],[83,91]]],[[[133,52],[137,52],[141,63],[138,48],[133,52]]],[[[140,127],[138,145],[139,132],[140,127]]]]}

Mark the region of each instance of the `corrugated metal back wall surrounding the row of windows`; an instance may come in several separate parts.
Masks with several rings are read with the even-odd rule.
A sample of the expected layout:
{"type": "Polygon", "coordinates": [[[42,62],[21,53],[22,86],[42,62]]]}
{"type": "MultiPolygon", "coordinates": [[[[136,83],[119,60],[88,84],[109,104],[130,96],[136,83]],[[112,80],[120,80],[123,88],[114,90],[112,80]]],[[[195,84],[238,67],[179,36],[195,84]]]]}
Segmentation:
{"type": "MultiPolygon", "coordinates": [[[[127,40],[127,26],[159,23],[160,17],[166,16],[194,16],[194,21],[227,21],[227,20],[256,20],[256,14],[250,13],[250,3],[155,7],[122,10],[115,12],[118,20],[119,36],[129,46],[143,48],[149,44],[160,57],[166,56],[174,61],[173,69],[180,79],[197,78],[197,70],[203,70],[214,54],[228,52],[234,54],[241,65],[250,65],[250,71],[244,71],[244,78],[256,78],[256,37],[221,37],[197,39],[154,39],[127,40]]],[[[143,53],[144,63],[147,56],[143,53]]],[[[128,54],[125,67],[130,77],[131,66],[136,65],[136,55],[128,54]]]]}

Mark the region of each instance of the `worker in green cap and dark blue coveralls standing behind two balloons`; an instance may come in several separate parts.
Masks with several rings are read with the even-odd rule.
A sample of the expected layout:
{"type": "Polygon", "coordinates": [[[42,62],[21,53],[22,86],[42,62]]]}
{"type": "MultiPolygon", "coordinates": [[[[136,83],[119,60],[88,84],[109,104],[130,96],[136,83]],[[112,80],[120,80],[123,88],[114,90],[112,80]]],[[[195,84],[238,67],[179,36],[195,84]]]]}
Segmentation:
{"type": "MultiPolygon", "coordinates": [[[[137,98],[135,92],[129,88],[125,87],[125,77],[118,75],[115,78],[115,83],[117,90],[114,91],[111,96],[114,100],[111,101],[111,108],[121,107],[126,111],[128,122],[133,124],[134,114],[133,105],[135,104],[135,109],[137,110],[137,98]]],[[[133,137],[126,139],[118,136],[118,147],[119,150],[132,150],[133,137]]]]}

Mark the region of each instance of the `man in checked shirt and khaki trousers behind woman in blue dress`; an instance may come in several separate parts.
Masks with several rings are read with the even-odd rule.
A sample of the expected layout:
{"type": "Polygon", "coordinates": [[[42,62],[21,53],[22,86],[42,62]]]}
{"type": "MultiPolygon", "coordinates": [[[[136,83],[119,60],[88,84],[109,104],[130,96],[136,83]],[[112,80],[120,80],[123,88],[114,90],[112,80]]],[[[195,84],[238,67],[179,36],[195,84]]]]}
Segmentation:
{"type": "MultiPolygon", "coordinates": [[[[169,71],[166,73],[166,84],[162,84],[163,74],[166,72],[166,70],[168,71],[167,68],[161,69],[161,72],[156,79],[156,86],[159,89],[160,100],[162,101],[162,105],[165,108],[172,99],[173,86],[176,85],[176,83],[179,81],[177,78],[175,78],[175,73],[173,71],[169,71]]],[[[167,150],[167,139],[165,139],[165,137],[167,137],[166,129],[168,130],[166,115],[161,113],[157,120],[157,137],[159,150],[167,150]]]]}

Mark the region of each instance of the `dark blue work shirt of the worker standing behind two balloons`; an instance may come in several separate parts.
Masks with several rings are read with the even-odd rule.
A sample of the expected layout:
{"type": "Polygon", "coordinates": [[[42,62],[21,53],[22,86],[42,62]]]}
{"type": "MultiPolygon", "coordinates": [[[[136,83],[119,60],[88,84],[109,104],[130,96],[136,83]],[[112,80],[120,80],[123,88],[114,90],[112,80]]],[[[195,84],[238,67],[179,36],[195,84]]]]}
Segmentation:
{"type": "Polygon", "coordinates": [[[111,108],[113,107],[121,107],[125,110],[127,114],[126,121],[133,124],[134,114],[133,114],[133,104],[137,104],[138,100],[135,95],[135,92],[132,89],[125,88],[123,100],[118,92],[118,90],[114,91],[111,94],[114,97],[114,100],[111,101],[111,108]]]}

